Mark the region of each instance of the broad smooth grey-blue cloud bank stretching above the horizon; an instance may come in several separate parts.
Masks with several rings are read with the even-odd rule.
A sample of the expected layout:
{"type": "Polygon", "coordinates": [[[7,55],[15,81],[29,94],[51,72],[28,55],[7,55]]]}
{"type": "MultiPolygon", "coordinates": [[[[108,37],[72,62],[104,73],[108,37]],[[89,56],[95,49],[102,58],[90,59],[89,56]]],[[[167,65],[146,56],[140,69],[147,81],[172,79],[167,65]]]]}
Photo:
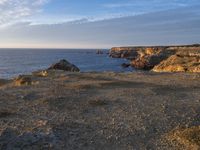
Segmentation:
{"type": "Polygon", "coordinates": [[[0,30],[0,46],[94,48],[190,44],[199,42],[199,26],[199,6],[94,22],[20,23],[0,30]]]}

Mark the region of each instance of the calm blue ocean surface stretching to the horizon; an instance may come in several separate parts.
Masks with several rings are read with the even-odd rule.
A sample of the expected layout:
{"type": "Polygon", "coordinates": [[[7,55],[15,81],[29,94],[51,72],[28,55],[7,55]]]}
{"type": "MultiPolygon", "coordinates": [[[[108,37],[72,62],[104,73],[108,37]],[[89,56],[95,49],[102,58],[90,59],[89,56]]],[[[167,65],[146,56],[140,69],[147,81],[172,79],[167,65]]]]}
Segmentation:
{"type": "Polygon", "coordinates": [[[0,49],[0,78],[12,78],[19,74],[30,74],[39,69],[46,69],[60,59],[66,59],[78,66],[81,72],[128,72],[131,68],[122,68],[126,59],[110,58],[97,55],[96,50],[87,49],[0,49]]]}

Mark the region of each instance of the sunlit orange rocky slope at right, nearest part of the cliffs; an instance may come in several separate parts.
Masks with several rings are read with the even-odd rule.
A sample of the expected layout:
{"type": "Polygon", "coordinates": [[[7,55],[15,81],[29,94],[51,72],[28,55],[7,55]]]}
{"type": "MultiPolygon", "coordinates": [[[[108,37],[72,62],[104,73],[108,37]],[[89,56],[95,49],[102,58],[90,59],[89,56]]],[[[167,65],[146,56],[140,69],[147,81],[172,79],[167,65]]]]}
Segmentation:
{"type": "Polygon", "coordinates": [[[153,68],[155,72],[200,72],[200,57],[172,55],[153,68]]]}

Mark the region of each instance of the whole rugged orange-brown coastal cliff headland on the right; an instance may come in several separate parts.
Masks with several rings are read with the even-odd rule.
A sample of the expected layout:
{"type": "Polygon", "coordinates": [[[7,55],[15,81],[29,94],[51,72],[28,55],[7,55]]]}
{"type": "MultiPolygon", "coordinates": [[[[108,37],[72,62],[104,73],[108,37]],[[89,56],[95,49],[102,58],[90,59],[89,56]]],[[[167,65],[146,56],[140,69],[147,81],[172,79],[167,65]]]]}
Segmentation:
{"type": "Polygon", "coordinates": [[[130,59],[136,69],[156,72],[200,72],[200,45],[114,47],[113,58],[130,59]]]}

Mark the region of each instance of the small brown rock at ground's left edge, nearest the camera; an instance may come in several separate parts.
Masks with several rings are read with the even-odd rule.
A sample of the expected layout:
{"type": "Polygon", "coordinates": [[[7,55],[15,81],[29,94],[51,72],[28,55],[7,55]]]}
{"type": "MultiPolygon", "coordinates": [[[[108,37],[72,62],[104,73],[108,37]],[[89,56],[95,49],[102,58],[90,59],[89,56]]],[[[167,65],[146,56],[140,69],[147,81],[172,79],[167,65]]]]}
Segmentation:
{"type": "Polygon", "coordinates": [[[16,86],[21,86],[21,85],[31,85],[32,79],[31,76],[29,75],[19,75],[15,80],[14,83],[16,86]]]}

